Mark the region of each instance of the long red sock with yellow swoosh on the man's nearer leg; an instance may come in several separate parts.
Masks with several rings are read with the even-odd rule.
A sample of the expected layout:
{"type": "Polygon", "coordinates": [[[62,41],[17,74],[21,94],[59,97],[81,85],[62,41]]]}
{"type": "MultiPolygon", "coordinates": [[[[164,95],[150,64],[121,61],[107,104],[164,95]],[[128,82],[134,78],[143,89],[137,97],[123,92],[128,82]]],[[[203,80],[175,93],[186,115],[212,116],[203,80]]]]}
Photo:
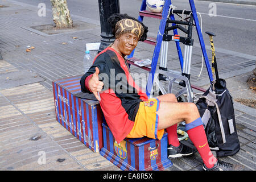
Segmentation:
{"type": "Polygon", "coordinates": [[[207,137],[205,135],[204,126],[196,126],[187,131],[189,138],[195,145],[197,151],[199,152],[201,158],[206,167],[212,168],[217,162],[217,159],[214,157],[210,151],[209,144],[207,142],[207,137]]]}

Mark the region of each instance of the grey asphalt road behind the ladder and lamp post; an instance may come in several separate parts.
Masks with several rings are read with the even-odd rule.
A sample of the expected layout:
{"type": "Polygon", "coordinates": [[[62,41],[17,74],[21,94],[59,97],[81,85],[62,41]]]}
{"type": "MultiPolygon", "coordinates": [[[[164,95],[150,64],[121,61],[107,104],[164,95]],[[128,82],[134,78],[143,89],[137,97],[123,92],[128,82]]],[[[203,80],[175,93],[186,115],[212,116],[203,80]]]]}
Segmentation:
{"type": "MultiPolygon", "coordinates": [[[[46,3],[47,9],[51,9],[49,0],[16,1],[34,6],[38,6],[39,3],[43,2],[46,3]]],[[[141,2],[141,0],[119,0],[120,12],[137,18],[141,2]]],[[[179,10],[190,10],[188,0],[174,0],[172,4],[179,10]]],[[[216,49],[221,48],[256,56],[256,6],[209,1],[195,1],[195,5],[197,12],[201,13],[202,16],[203,32],[211,31],[217,35],[214,38],[216,49]],[[210,3],[214,3],[213,6],[216,7],[216,16],[209,16],[209,12],[211,13],[213,10],[213,6],[209,7],[210,3]]],[[[68,0],[68,7],[73,15],[100,20],[97,0],[68,0]]],[[[158,30],[159,22],[159,20],[152,18],[144,18],[143,20],[143,23],[149,27],[150,32],[158,30]]],[[[193,35],[195,42],[198,43],[196,32],[193,35]]],[[[205,44],[209,45],[208,36],[205,33],[203,35],[205,44]]]]}

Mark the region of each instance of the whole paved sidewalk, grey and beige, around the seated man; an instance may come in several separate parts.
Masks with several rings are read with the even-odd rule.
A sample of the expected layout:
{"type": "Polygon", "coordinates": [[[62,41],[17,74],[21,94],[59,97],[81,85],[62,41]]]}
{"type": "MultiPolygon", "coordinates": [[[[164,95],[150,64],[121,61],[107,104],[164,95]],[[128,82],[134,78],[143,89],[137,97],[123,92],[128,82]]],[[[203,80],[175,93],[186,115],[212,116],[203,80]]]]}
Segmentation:
{"type": "MultiPolygon", "coordinates": [[[[55,118],[52,81],[82,75],[85,44],[100,42],[99,22],[73,16],[83,30],[48,35],[33,27],[52,24],[51,11],[38,16],[38,7],[0,0],[0,170],[120,170],[99,153],[89,150],[55,118]],[[26,52],[27,46],[33,46],[26,52]],[[46,163],[44,164],[44,156],[46,163]]],[[[169,49],[174,47],[170,45],[169,49]]],[[[150,59],[153,47],[139,43],[135,56],[150,59]]],[[[230,78],[255,68],[255,56],[216,49],[220,77],[230,78]]],[[[211,55],[207,47],[208,55],[211,55]]],[[[97,51],[91,51],[96,56],[97,51]]],[[[193,47],[193,85],[209,84],[206,69],[200,78],[200,47],[193,47]]],[[[179,71],[176,51],[168,52],[168,68],[179,71]]],[[[133,73],[146,73],[131,67],[133,73]]],[[[222,158],[255,170],[255,109],[234,104],[241,150],[222,158]]],[[[167,170],[200,170],[199,154],[172,160],[167,170]]]]}

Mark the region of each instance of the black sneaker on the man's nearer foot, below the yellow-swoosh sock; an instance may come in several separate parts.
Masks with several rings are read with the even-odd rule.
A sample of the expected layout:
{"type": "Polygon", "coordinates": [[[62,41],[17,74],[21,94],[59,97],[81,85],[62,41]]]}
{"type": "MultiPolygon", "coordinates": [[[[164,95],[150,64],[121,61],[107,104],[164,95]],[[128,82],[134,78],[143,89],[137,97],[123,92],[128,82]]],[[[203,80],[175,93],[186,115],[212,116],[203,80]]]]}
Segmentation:
{"type": "Polygon", "coordinates": [[[203,169],[205,171],[241,171],[244,167],[240,164],[230,164],[220,159],[214,164],[212,168],[207,168],[205,164],[203,164],[203,169]]]}

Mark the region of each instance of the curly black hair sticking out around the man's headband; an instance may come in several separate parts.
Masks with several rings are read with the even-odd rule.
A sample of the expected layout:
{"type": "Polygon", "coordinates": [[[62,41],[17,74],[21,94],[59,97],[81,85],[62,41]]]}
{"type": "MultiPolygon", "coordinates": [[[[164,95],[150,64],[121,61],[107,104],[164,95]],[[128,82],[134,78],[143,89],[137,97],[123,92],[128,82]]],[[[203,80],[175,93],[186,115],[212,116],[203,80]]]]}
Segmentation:
{"type": "Polygon", "coordinates": [[[144,40],[146,40],[146,39],[147,39],[148,27],[147,27],[147,26],[144,26],[144,24],[143,24],[142,22],[140,22],[138,19],[133,18],[133,17],[127,15],[127,14],[119,14],[119,13],[116,13],[116,14],[113,14],[113,15],[111,15],[111,16],[109,17],[108,22],[111,24],[113,35],[115,36],[115,24],[116,24],[117,22],[119,22],[119,20],[125,19],[125,18],[133,19],[133,20],[135,20],[135,21],[137,21],[137,22],[139,22],[139,23],[142,24],[142,26],[143,26],[143,28],[144,28],[144,32],[143,32],[143,34],[142,34],[142,36],[141,36],[141,39],[139,39],[139,41],[144,41],[144,40]]]}

